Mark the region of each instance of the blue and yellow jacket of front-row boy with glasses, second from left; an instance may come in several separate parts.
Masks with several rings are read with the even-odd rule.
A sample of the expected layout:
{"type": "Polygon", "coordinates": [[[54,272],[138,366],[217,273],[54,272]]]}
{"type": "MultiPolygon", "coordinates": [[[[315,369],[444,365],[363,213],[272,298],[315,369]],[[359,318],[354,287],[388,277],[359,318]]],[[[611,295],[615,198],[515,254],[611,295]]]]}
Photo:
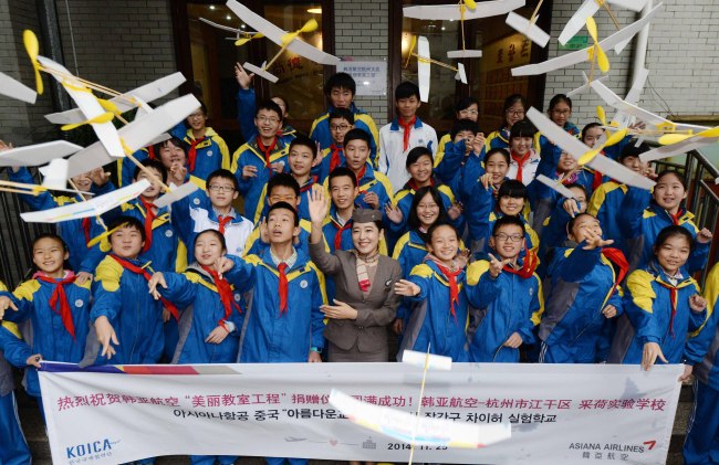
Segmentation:
{"type": "MultiPolygon", "coordinates": [[[[136,266],[153,270],[147,263],[129,260],[136,266]]],[[[111,359],[102,357],[97,350],[96,364],[147,364],[157,363],[163,353],[165,337],[163,331],[163,303],[155,300],[147,290],[147,279],[132,273],[110,255],[97,266],[93,285],[95,298],[90,313],[94,324],[101,317],[115,329],[118,346],[111,359]]],[[[95,353],[88,355],[91,358],[95,353]]]]}

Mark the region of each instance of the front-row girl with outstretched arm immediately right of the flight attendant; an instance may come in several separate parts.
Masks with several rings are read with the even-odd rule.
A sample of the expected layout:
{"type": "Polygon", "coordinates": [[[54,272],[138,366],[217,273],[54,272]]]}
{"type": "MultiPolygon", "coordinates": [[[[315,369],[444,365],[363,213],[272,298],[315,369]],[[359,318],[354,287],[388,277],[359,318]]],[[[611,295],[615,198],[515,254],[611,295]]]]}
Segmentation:
{"type": "Polygon", "coordinates": [[[411,311],[397,358],[406,349],[467,361],[467,257],[459,251],[459,235],[450,224],[435,223],[423,264],[408,279],[395,284],[395,293],[417,305],[411,311]]]}

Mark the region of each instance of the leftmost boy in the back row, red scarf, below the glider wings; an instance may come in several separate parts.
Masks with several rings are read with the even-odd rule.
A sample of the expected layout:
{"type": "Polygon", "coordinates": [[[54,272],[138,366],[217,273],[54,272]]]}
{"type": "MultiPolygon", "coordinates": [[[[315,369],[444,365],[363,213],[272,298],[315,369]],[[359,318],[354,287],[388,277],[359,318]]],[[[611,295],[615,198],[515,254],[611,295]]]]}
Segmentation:
{"type": "Polygon", "coordinates": [[[230,150],[215,129],[207,127],[207,107],[200,107],[186,119],[187,134],[183,141],[187,147],[188,172],[201,180],[218,169],[230,168],[230,150]]]}

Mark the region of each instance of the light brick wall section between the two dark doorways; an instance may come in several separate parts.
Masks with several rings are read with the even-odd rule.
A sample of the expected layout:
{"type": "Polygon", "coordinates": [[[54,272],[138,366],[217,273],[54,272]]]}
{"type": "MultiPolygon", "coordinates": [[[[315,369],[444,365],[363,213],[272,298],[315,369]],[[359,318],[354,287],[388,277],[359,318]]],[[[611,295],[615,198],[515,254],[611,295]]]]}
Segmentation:
{"type": "MultiPolygon", "coordinates": [[[[336,0],[335,54],[356,61],[386,60],[389,55],[389,2],[385,0],[336,0]],[[364,19],[359,22],[358,19],[364,19]]],[[[377,128],[387,123],[388,97],[357,97],[357,106],[369,113],[377,128]]]]}

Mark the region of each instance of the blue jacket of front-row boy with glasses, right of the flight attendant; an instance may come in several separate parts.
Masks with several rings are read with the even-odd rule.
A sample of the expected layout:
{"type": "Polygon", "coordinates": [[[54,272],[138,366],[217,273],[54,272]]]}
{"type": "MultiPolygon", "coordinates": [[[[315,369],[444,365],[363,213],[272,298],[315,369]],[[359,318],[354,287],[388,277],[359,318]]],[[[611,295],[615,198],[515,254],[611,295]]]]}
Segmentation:
{"type": "MultiPolygon", "coordinates": [[[[521,264],[520,264],[521,266],[521,264]]],[[[519,362],[519,348],[503,344],[518,332],[522,344],[534,344],[533,328],[544,310],[542,283],[536,274],[523,278],[502,272],[493,278],[489,262],[479,260],[467,268],[469,361],[519,362]]]]}

